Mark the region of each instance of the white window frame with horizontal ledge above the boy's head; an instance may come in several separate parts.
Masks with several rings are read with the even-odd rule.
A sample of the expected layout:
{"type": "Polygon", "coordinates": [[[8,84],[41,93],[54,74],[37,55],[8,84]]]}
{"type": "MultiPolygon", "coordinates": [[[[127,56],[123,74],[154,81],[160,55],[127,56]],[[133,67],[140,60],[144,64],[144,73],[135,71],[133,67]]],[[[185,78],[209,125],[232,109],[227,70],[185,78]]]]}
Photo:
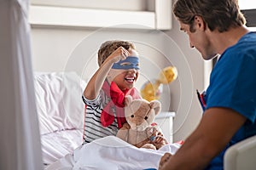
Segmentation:
{"type": "Polygon", "coordinates": [[[147,10],[79,8],[79,4],[76,4],[76,7],[69,7],[58,6],[55,3],[41,4],[41,1],[43,2],[37,0],[39,3],[33,1],[31,3],[29,13],[31,26],[172,29],[172,0],[148,0],[147,10]]]}

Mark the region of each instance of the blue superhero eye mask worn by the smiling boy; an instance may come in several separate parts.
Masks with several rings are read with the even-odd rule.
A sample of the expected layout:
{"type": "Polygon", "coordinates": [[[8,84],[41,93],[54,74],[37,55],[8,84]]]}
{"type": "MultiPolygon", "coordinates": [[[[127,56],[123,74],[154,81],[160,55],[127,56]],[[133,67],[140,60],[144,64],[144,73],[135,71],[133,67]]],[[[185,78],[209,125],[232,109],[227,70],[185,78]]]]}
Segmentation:
{"type": "Polygon", "coordinates": [[[120,69],[120,70],[129,70],[129,69],[140,70],[139,59],[137,57],[129,56],[124,60],[119,60],[119,62],[114,63],[112,68],[120,69]]]}

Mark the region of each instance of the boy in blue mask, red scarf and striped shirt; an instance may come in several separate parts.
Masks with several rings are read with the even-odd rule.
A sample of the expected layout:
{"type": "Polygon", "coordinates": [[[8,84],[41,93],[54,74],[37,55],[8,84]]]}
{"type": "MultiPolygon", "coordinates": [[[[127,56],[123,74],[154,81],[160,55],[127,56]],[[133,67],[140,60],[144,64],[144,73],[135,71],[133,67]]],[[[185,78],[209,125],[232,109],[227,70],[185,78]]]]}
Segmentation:
{"type": "Polygon", "coordinates": [[[134,88],[139,75],[139,59],[133,43],[117,40],[102,43],[98,65],[99,69],[84,89],[84,144],[116,135],[126,122],[125,95],[141,98],[134,88]]]}

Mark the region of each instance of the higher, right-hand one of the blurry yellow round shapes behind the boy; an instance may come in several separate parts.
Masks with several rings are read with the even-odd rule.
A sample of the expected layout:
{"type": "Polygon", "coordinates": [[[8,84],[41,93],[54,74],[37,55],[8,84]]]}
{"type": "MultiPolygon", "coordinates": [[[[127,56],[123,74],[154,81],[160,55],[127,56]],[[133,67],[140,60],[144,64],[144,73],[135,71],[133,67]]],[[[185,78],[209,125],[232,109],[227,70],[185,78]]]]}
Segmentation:
{"type": "Polygon", "coordinates": [[[168,66],[160,72],[159,81],[163,84],[173,82],[177,78],[177,68],[175,66],[168,66]]]}

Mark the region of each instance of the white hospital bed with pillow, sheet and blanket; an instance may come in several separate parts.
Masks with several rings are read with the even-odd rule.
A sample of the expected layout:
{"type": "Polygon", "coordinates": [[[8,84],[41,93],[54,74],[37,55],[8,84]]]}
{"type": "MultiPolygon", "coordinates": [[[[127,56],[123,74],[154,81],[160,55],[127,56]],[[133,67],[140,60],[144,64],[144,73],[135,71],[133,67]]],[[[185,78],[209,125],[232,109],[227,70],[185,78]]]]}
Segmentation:
{"type": "Polygon", "coordinates": [[[137,147],[109,136],[83,143],[86,82],[75,72],[35,72],[38,120],[44,168],[55,169],[148,169],[157,168],[164,153],[174,153],[180,144],[160,150],[137,147]]]}

